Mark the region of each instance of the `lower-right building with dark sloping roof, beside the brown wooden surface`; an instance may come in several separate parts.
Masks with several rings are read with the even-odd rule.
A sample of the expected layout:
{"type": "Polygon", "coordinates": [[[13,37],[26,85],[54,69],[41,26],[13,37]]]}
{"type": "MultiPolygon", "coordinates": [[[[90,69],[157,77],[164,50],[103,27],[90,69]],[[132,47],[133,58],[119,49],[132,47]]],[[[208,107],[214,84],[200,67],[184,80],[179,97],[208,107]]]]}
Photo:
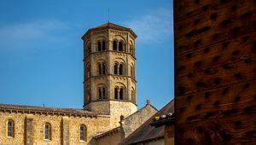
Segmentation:
{"type": "Polygon", "coordinates": [[[168,102],[130,136],[122,145],[173,145],[174,144],[174,100],[168,102]],[[171,115],[170,115],[171,114],[171,115]]]}

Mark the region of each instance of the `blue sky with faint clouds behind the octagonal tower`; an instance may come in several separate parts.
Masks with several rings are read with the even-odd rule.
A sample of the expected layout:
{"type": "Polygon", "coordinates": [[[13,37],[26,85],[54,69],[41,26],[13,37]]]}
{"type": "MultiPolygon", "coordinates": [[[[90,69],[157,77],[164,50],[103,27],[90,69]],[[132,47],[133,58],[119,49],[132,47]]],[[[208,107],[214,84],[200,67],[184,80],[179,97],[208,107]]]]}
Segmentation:
{"type": "Polygon", "coordinates": [[[137,105],[174,96],[172,0],[2,0],[0,103],[83,107],[83,41],[108,22],[137,33],[137,105]],[[155,58],[155,59],[154,59],[155,58]]]}

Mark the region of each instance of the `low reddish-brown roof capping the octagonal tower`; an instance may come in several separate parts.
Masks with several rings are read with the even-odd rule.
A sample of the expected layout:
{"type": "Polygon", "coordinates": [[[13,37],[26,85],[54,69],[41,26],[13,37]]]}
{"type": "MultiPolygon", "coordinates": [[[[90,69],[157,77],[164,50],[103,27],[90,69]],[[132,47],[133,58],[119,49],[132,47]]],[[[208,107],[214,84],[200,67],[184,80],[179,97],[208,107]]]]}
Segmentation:
{"type": "Polygon", "coordinates": [[[115,30],[120,30],[120,31],[131,32],[131,35],[134,38],[137,38],[137,35],[135,34],[135,32],[133,32],[131,30],[131,28],[125,27],[125,26],[119,26],[117,24],[113,24],[113,23],[108,22],[108,23],[102,24],[100,26],[90,28],[87,32],[84,33],[82,39],[84,39],[84,36],[88,35],[92,31],[99,31],[99,30],[104,30],[104,29],[115,29],[115,30]]]}

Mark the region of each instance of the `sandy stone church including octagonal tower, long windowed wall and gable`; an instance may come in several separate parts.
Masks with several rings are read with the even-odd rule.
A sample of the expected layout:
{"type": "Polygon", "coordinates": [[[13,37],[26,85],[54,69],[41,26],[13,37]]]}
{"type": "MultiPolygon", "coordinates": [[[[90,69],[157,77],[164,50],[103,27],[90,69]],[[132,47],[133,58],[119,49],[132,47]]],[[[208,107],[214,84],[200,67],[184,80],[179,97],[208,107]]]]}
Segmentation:
{"type": "Polygon", "coordinates": [[[137,111],[135,38],[109,22],[90,28],[82,37],[84,108],[0,104],[0,144],[106,144],[118,136],[110,142],[117,144],[129,136],[157,112],[149,102],[137,111]]]}

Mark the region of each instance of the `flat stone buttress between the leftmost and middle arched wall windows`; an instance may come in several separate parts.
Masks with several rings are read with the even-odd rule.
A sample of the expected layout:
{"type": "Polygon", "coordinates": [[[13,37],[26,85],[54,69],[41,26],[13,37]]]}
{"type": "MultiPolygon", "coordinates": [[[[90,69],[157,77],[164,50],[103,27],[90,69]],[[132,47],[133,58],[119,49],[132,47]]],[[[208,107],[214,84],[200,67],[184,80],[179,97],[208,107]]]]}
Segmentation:
{"type": "Polygon", "coordinates": [[[26,115],[25,120],[25,144],[32,145],[33,144],[33,118],[32,114],[26,115]]]}

